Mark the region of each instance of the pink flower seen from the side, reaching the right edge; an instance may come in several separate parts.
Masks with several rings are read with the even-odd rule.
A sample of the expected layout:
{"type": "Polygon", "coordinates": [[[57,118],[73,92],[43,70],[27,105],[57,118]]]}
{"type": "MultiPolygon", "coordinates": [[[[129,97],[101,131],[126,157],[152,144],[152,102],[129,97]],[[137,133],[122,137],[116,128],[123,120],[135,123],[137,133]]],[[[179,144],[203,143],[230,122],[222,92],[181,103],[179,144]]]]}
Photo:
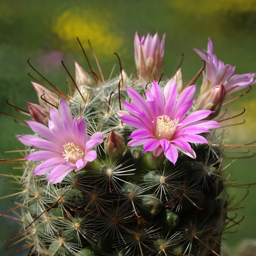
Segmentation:
{"type": "Polygon", "coordinates": [[[195,49],[195,51],[206,62],[206,72],[204,73],[200,95],[222,83],[226,90],[226,99],[231,93],[256,83],[255,80],[253,81],[255,73],[233,76],[236,67],[228,64],[224,65],[223,61],[217,59],[216,55],[213,54],[213,46],[210,38],[208,40],[207,51],[205,51],[207,56],[198,49],[195,49]]]}

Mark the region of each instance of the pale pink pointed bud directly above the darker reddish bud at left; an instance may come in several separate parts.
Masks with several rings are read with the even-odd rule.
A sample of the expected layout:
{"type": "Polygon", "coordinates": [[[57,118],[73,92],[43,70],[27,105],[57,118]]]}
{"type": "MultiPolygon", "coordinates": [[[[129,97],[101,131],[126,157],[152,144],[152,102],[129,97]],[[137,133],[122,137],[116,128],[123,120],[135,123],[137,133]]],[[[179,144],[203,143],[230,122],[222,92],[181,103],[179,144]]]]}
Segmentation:
{"type": "Polygon", "coordinates": [[[51,92],[50,90],[48,90],[47,88],[45,88],[44,86],[37,84],[35,82],[31,82],[35,88],[35,92],[38,95],[38,101],[39,104],[43,107],[51,107],[50,104],[48,104],[47,102],[51,103],[52,105],[58,107],[59,105],[59,96],[56,93],[51,92]],[[47,101],[44,101],[41,99],[41,96],[44,94],[43,98],[47,101]]]}

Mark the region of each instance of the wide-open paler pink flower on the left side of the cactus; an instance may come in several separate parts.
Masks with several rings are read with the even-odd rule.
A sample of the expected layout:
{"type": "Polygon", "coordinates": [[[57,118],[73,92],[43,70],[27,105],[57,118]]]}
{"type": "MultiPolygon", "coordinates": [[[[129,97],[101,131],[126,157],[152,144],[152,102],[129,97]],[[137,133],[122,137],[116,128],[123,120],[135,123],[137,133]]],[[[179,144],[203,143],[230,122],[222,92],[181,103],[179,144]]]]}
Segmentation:
{"type": "Polygon", "coordinates": [[[27,155],[25,159],[45,161],[35,166],[34,175],[50,172],[47,179],[52,184],[61,182],[73,170],[77,172],[96,159],[97,153],[91,149],[103,141],[101,132],[88,139],[86,122],[82,117],[73,119],[64,99],[60,100],[58,111],[50,108],[49,128],[39,122],[27,121],[32,131],[46,140],[34,135],[17,137],[24,145],[41,150],[27,155]]]}

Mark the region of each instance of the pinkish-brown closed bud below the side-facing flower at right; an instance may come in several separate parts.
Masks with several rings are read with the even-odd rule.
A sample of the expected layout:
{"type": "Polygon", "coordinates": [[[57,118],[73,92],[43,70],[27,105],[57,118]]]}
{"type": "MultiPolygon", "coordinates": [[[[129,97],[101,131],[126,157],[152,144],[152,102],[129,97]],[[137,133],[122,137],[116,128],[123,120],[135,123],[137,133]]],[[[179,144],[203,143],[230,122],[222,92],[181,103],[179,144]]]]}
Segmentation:
{"type": "Polygon", "coordinates": [[[203,93],[197,100],[195,111],[206,109],[215,111],[207,116],[207,119],[213,119],[221,111],[221,105],[224,101],[226,90],[223,84],[219,84],[207,92],[203,93]]]}

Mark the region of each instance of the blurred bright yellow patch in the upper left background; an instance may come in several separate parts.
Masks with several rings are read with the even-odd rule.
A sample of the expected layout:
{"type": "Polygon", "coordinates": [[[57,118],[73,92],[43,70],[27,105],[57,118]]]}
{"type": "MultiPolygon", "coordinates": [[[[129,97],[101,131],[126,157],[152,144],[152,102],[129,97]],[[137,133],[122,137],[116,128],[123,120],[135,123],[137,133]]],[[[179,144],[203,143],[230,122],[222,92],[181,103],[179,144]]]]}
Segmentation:
{"type": "MultiPolygon", "coordinates": [[[[81,41],[84,49],[90,49],[88,39],[98,55],[113,55],[118,51],[124,39],[111,32],[110,21],[105,13],[93,10],[68,9],[63,12],[53,25],[53,32],[63,42],[61,48],[78,49],[81,41]]],[[[112,25],[112,24],[111,24],[112,25]]]]}

